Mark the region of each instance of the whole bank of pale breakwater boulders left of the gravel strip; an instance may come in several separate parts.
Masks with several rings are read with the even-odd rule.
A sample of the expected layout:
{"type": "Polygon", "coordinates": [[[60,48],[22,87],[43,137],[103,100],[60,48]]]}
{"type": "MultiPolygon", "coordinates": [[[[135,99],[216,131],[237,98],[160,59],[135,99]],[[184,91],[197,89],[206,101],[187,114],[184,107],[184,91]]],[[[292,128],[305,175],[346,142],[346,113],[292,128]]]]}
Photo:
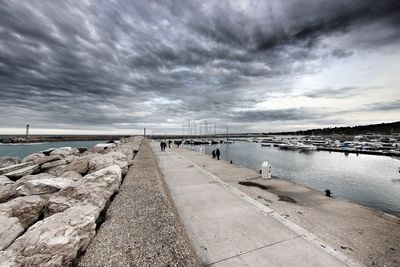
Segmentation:
{"type": "Polygon", "coordinates": [[[141,143],[0,159],[0,265],[68,266],[86,250],[141,143]]]}

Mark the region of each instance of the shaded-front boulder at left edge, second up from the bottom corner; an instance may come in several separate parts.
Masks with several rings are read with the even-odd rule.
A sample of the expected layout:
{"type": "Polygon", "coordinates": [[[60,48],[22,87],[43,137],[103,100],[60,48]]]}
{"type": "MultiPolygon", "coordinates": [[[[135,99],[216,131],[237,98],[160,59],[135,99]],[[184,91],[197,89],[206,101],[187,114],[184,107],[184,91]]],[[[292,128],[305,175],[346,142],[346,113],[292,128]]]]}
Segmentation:
{"type": "Polygon", "coordinates": [[[46,201],[39,196],[14,198],[0,204],[0,212],[16,217],[24,229],[34,224],[40,217],[46,201]]]}

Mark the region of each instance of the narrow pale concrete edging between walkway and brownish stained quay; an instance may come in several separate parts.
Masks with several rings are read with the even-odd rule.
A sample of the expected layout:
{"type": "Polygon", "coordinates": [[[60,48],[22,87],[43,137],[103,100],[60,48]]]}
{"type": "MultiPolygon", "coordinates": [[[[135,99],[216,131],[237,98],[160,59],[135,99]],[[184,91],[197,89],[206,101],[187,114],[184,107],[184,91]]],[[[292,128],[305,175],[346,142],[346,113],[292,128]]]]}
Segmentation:
{"type": "Polygon", "coordinates": [[[214,175],[211,172],[208,172],[208,171],[204,170],[202,167],[198,166],[197,164],[195,164],[194,162],[190,161],[186,157],[183,157],[183,156],[179,155],[178,153],[176,153],[173,150],[171,150],[171,152],[175,153],[176,156],[178,156],[179,158],[181,158],[183,160],[186,160],[186,161],[190,162],[191,164],[193,164],[193,166],[195,168],[199,169],[204,174],[209,175],[210,177],[212,177],[214,180],[216,180],[218,183],[222,184],[225,188],[230,190],[237,197],[244,199],[249,204],[257,207],[258,209],[260,209],[264,213],[264,215],[270,216],[273,219],[279,221],[280,223],[282,223],[283,225],[288,227],[290,230],[292,230],[293,232],[295,232],[296,234],[298,234],[302,238],[304,238],[304,239],[306,239],[308,241],[311,241],[311,243],[313,243],[314,245],[322,248],[325,252],[327,252],[331,256],[335,257],[339,261],[343,262],[344,264],[346,264],[348,266],[351,266],[351,267],[363,267],[363,266],[365,266],[361,262],[359,262],[359,261],[357,261],[357,260],[355,260],[353,258],[350,258],[349,256],[347,256],[347,255],[343,254],[342,252],[338,251],[337,249],[333,248],[332,246],[326,244],[321,239],[319,239],[316,235],[310,233],[309,231],[307,231],[303,227],[301,227],[301,226],[289,221],[288,219],[286,219],[285,217],[281,216],[280,214],[278,214],[277,212],[275,212],[271,208],[264,206],[263,204],[261,204],[260,202],[258,202],[255,199],[251,198],[250,196],[248,196],[247,194],[243,193],[239,189],[233,187],[232,185],[229,185],[229,184],[225,183],[224,181],[219,179],[216,175],[214,175]]]}

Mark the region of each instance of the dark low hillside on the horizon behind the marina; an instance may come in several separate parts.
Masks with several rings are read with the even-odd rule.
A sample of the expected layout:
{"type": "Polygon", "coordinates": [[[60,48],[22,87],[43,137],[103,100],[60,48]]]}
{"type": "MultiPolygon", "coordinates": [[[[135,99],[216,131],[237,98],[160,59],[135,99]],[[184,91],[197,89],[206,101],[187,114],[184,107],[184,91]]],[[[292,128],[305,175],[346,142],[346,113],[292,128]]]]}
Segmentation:
{"type": "MultiPolygon", "coordinates": [[[[306,131],[296,132],[282,132],[278,134],[298,134],[298,135],[331,135],[331,134],[344,134],[344,135],[358,135],[366,133],[378,133],[378,134],[391,134],[400,133],[400,121],[391,123],[380,123],[371,125],[359,125],[359,126],[348,126],[348,127],[329,127],[323,129],[311,129],[306,131]]],[[[277,133],[275,133],[277,134],[277,133]]]]}

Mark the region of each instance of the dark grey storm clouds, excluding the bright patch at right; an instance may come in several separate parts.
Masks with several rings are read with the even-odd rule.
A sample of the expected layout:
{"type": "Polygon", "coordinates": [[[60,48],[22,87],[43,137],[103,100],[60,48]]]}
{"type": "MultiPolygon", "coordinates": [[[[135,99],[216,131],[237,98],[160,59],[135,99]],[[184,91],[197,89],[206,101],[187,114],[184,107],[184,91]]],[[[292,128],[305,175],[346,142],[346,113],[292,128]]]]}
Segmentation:
{"type": "MultiPolygon", "coordinates": [[[[394,0],[240,3],[2,1],[0,128],[27,122],[134,128],[167,119],[173,126],[187,117],[318,119],[302,109],[235,109],[252,108],[266,92],[280,90],[269,86],[277,77],[315,71],[308,61],[352,55],[325,44],[325,37],[347,36],[357,49],[358,43],[379,47],[400,36],[400,3],[394,0]],[[381,31],[372,38],[358,30],[366,26],[381,31]],[[265,86],[252,87],[260,80],[265,86]]],[[[357,90],[306,96],[342,98],[357,90]]]]}

